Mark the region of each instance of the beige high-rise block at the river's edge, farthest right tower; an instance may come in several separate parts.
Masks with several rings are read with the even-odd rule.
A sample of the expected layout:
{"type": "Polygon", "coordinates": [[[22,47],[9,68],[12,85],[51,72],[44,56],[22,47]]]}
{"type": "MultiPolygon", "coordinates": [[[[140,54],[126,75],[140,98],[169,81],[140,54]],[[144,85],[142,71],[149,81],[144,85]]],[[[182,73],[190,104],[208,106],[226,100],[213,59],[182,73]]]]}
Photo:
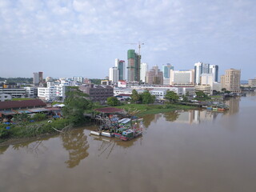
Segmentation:
{"type": "Polygon", "coordinates": [[[239,93],[240,90],[241,70],[226,70],[225,72],[225,88],[230,92],[239,93]]]}

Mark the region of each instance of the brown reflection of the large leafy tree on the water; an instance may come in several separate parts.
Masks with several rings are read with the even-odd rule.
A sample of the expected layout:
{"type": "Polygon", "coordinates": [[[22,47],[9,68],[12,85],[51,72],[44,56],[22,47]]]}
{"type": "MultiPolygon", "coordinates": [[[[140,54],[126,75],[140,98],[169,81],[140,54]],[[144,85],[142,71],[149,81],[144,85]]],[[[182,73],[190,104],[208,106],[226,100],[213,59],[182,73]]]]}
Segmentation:
{"type": "Polygon", "coordinates": [[[69,159],[65,162],[67,167],[78,166],[82,159],[88,157],[89,144],[82,129],[71,130],[67,134],[62,134],[61,138],[63,147],[69,153],[69,159]]]}

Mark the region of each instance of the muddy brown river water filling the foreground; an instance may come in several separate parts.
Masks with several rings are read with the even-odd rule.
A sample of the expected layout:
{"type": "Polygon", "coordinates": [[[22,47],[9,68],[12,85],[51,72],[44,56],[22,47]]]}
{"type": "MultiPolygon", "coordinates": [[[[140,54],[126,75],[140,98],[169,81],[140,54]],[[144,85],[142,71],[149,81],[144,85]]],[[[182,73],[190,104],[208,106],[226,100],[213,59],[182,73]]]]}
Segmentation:
{"type": "Polygon", "coordinates": [[[228,104],[148,115],[130,142],[86,127],[2,147],[0,191],[256,191],[256,95],[228,104]]]}

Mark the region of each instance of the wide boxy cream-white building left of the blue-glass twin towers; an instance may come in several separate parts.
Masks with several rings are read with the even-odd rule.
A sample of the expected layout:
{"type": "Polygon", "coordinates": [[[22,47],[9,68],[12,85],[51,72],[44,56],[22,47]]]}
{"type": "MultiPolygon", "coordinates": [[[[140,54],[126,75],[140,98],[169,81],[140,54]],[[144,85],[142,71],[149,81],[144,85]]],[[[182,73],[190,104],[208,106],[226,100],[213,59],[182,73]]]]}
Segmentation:
{"type": "Polygon", "coordinates": [[[170,70],[170,85],[194,85],[194,70],[170,70]]]}

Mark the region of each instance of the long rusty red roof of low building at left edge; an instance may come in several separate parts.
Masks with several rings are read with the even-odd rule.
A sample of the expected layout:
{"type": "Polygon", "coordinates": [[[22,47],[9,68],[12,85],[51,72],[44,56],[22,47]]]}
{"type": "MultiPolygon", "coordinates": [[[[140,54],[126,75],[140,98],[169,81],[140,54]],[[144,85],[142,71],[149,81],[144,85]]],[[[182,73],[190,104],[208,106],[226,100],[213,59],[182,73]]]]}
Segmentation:
{"type": "Polygon", "coordinates": [[[23,101],[6,101],[0,102],[0,110],[15,109],[15,108],[32,108],[38,106],[46,106],[45,102],[40,99],[23,100],[23,101]]]}

